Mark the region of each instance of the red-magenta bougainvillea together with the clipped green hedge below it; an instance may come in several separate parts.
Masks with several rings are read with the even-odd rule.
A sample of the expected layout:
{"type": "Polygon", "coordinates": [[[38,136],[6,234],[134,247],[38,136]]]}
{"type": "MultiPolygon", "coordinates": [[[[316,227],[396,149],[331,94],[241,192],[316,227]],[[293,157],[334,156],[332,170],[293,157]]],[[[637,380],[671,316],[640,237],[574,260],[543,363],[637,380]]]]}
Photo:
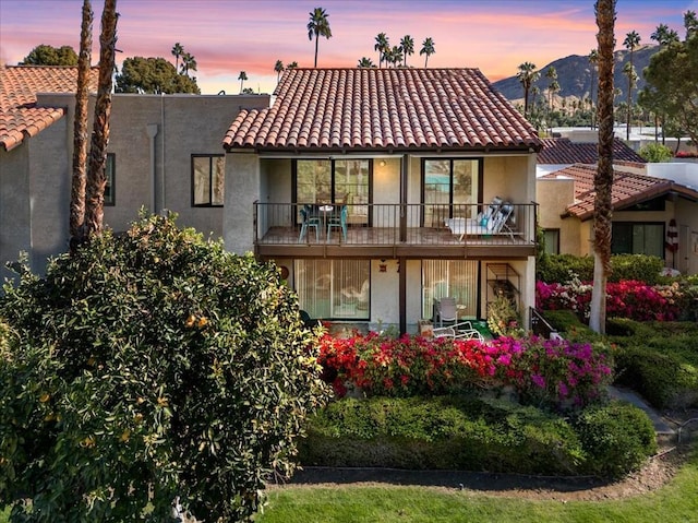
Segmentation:
{"type": "Polygon", "coordinates": [[[323,336],[320,362],[338,400],[303,465],[619,477],[657,450],[647,415],[609,402],[603,344],[356,333],[323,336]]]}

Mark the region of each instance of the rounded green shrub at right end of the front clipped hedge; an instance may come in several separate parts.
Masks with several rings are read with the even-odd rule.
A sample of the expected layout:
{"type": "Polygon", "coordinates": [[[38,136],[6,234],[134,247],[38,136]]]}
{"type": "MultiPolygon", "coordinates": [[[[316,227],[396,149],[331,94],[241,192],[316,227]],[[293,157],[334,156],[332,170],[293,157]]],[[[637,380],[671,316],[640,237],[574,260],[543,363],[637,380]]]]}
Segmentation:
{"type": "Polygon", "coordinates": [[[641,409],[621,402],[591,406],[575,419],[587,455],[585,471],[619,478],[657,452],[654,427],[641,409]]]}

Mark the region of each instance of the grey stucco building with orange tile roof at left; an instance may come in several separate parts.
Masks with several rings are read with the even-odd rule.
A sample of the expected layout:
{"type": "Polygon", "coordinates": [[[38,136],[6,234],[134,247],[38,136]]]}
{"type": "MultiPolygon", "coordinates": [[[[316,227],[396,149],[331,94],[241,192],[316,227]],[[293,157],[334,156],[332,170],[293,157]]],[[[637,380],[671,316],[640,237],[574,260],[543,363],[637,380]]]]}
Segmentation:
{"type": "MultiPolygon", "coordinates": [[[[43,271],[68,249],[76,75],[70,67],[0,68],[0,276],[20,251],[43,271]]],[[[92,93],[96,84],[93,69],[92,93]]],[[[241,108],[268,103],[264,95],[113,95],[105,225],[124,230],[141,207],[170,210],[180,225],[221,237],[220,136],[241,108]]]]}

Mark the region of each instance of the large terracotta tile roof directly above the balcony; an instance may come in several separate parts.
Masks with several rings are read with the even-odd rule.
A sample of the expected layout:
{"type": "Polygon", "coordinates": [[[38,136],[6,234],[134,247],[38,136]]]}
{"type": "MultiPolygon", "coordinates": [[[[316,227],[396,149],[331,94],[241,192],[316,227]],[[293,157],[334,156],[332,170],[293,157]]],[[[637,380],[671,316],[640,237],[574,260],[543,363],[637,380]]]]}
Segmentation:
{"type": "Polygon", "coordinates": [[[270,108],[242,110],[227,148],[539,150],[531,124],[477,69],[294,69],[270,108]]]}

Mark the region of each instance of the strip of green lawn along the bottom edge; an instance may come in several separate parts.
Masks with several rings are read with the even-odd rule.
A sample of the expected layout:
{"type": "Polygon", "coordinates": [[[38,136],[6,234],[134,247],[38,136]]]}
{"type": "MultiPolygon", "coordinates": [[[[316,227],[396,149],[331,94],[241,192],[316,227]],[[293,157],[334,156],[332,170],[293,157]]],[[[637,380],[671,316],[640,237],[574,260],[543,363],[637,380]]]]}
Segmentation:
{"type": "Polygon", "coordinates": [[[646,496],[622,500],[522,500],[406,486],[287,486],[269,494],[261,523],[642,523],[698,520],[698,450],[676,477],[646,496]]]}

